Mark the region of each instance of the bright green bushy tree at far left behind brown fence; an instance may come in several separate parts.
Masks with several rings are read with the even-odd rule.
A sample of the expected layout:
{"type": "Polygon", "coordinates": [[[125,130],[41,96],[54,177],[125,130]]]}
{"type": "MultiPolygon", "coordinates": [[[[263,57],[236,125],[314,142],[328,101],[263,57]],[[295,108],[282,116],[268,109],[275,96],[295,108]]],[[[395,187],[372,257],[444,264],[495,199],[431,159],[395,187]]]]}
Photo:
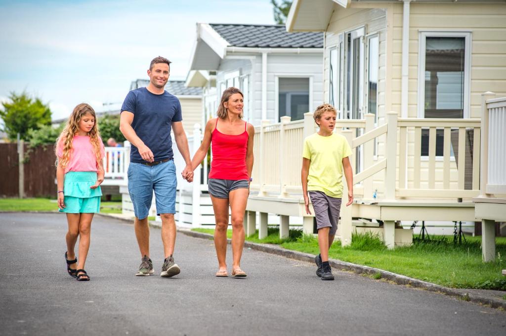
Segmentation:
{"type": "Polygon", "coordinates": [[[4,120],[4,131],[11,140],[17,134],[28,140],[28,130],[39,129],[42,125],[51,125],[51,110],[38,98],[32,98],[23,91],[21,94],[11,92],[9,102],[4,102],[0,117],[4,120]]]}

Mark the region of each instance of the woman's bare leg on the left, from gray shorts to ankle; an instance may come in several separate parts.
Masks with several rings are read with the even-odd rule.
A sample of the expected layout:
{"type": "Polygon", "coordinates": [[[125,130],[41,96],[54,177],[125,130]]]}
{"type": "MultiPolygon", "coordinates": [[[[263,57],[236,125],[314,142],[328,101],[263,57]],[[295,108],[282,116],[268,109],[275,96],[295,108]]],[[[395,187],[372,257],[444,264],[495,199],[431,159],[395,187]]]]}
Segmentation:
{"type": "Polygon", "coordinates": [[[215,248],[218,257],[218,271],[227,270],[227,229],[228,229],[228,199],[211,196],[215,212],[215,248]]]}

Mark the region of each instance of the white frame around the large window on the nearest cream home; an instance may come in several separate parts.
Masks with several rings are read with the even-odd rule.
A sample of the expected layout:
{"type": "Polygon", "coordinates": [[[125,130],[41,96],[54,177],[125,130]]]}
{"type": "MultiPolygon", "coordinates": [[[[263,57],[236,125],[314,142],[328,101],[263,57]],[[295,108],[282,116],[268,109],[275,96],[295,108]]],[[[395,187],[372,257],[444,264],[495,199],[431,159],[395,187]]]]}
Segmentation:
{"type": "Polygon", "coordinates": [[[418,32],[418,102],[417,117],[425,118],[425,52],[427,37],[464,37],[464,89],[462,119],[470,118],[471,110],[471,31],[433,31],[420,30],[418,32]]]}

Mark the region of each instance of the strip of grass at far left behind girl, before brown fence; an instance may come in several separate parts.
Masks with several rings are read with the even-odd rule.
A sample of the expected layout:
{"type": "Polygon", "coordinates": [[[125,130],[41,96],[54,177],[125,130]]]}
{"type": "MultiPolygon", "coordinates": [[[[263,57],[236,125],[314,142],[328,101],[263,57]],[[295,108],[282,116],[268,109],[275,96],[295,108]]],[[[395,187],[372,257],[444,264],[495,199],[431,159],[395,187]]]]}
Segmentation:
{"type": "MultiPolygon", "coordinates": [[[[0,211],[58,211],[56,200],[45,198],[34,199],[0,199],[0,211]]],[[[121,213],[121,202],[100,202],[100,212],[121,213]]]]}

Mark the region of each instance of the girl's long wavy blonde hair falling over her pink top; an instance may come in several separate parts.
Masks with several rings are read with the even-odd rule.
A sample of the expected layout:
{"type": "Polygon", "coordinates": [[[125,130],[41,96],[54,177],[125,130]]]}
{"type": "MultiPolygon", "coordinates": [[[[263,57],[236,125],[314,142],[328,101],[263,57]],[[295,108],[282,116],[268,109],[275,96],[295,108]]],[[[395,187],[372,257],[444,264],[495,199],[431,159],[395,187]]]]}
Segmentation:
{"type": "Polygon", "coordinates": [[[88,132],[88,135],[90,136],[90,142],[92,143],[93,146],[93,153],[97,158],[97,169],[100,169],[101,167],[99,163],[102,161],[102,156],[100,153],[100,131],[98,130],[97,114],[89,104],[81,103],[77,105],[72,111],[72,114],[68,118],[65,128],[63,129],[60,136],[58,137],[58,140],[56,141],[55,154],[57,165],[58,165],[58,147],[60,141],[63,141],[63,155],[60,164],[64,169],[70,162],[70,157],[73,151],[72,139],[74,138],[74,135],[77,134],[77,132],[79,132],[79,121],[81,121],[82,116],[86,114],[91,114],[93,118],[95,118],[95,124],[93,125],[93,128],[88,132]]]}

